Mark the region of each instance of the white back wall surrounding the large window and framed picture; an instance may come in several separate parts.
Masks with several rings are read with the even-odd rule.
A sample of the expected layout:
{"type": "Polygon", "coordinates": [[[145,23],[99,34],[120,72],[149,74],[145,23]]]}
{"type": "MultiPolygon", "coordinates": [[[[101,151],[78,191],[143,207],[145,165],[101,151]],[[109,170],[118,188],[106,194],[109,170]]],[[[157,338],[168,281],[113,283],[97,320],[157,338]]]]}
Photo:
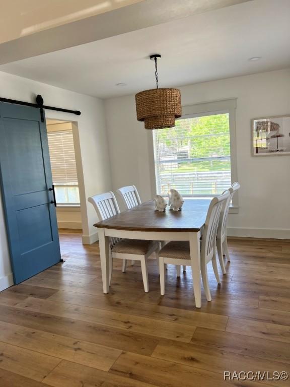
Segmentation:
{"type": "MultiPolygon", "coordinates": [[[[239,213],[229,233],[290,238],[290,156],[251,156],[251,119],[290,114],[290,70],[181,87],[183,105],[237,98],[239,213]]],[[[113,189],[135,184],[141,200],[152,198],[148,133],[137,122],[134,96],[105,101],[113,189]]]]}

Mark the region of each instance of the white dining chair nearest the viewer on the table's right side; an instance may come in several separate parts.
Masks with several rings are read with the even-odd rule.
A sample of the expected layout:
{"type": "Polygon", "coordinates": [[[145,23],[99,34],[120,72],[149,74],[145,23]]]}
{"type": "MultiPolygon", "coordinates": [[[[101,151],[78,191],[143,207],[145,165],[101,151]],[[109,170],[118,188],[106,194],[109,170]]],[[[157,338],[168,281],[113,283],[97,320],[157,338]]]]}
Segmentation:
{"type": "MultiPolygon", "coordinates": [[[[200,271],[205,290],[207,301],[211,301],[211,295],[207,278],[207,264],[212,263],[214,275],[218,284],[221,283],[218,266],[215,259],[215,243],[216,232],[218,231],[219,218],[225,201],[230,196],[229,191],[225,191],[222,195],[211,200],[204,225],[200,245],[200,271]]],[[[165,294],[165,264],[173,264],[179,266],[193,266],[191,260],[195,260],[196,256],[190,256],[189,241],[171,241],[159,251],[159,270],[160,270],[160,287],[161,294],[165,294]]],[[[193,278],[193,276],[192,276],[193,278]]]]}

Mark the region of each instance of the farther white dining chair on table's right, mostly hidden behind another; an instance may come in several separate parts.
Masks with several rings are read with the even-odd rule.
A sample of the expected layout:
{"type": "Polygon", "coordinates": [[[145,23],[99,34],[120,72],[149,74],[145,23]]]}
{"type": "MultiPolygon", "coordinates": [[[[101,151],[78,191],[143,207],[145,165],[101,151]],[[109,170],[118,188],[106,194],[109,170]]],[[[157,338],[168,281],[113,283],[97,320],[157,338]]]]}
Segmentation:
{"type": "Polygon", "coordinates": [[[228,262],[230,262],[230,254],[229,254],[228,241],[227,241],[227,222],[228,222],[229,209],[233,199],[233,195],[239,188],[240,188],[240,184],[238,182],[233,183],[232,186],[229,188],[230,196],[228,200],[225,202],[224,207],[222,208],[221,216],[219,220],[218,232],[216,235],[216,247],[218,248],[218,256],[219,256],[219,261],[220,261],[223,274],[227,274],[225,263],[224,263],[224,253],[227,257],[228,262]]]}

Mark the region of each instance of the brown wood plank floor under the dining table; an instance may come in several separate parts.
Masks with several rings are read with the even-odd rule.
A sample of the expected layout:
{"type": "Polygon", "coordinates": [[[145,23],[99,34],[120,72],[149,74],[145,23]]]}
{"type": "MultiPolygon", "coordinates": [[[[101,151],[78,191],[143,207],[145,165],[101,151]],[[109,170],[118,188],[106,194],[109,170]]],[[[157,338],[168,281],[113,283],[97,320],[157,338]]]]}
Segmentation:
{"type": "Polygon", "coordinates": [[[114,263],[102,293],[98,243],[60,232],[62,264],[0,293],[1,387],[209,387],[290,385],[224,381],[224,371],[290,374],[290,241],[232,239],[227,275],[196,309],[190,268],[156,260],[148,294],[138,263],[114,263]]]}

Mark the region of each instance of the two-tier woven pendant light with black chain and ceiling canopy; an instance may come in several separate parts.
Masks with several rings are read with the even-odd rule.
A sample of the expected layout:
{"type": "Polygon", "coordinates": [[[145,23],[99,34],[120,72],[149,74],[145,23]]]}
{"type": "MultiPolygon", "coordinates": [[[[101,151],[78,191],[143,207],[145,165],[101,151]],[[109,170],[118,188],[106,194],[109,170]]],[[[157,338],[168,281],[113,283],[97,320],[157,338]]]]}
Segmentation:
{"type": "Polygon", "coordinates": [[[144,90],[135,95],[137,120],[144,121],[145,129],[173,127],[175,118],[181,117],[180,90],[159,88],[157,58],[161,58],[161,55],[150,55],[150,59],[155,61],[156,89],[144,90]]]}

